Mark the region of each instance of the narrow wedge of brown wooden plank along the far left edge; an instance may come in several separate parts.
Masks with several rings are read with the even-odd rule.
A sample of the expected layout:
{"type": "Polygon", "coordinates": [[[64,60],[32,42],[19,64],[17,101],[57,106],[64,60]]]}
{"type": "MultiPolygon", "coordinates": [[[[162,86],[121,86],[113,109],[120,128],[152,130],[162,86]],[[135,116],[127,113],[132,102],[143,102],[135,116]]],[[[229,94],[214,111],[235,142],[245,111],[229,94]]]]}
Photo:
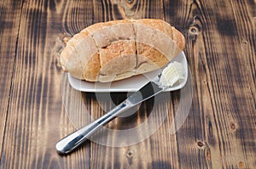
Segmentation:
{"type": "MultiPolygon", "coordinates": [[[[2,152],[3,132],[9,107],[9,93],[15,65],[16,41],[20,25],[21,3],[0,2],[0,150],[2,152]]],[[[0,159],[2,155],[0,155],[0,159]]]]}

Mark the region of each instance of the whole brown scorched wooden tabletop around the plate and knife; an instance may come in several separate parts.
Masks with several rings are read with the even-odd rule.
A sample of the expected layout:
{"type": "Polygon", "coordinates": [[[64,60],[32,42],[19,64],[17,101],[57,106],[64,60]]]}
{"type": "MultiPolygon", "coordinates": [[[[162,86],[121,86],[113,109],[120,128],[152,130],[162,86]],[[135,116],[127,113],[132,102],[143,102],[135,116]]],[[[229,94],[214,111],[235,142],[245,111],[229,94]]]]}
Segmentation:
{"type": "MultiPolygon", "coordinates": [[[[256,168],[255,8],[253,0],[2,0],[1,168],[256,168]],[[149,99],[136,114],[108,125],[126,130],[147,122],[153,111],[155,122],[167,113],[148,138],[127,145],[129,138],[104,135],[99,139],[124,146],[91,141],[71,155],[58,155],[57,141],[88,122],[81,117],[74,124],[67,110],[85,107],[96,118],[113,107],[109,99],[68,85],[58,65],[61,39],[124,18],[162,19],[183,32],[193,87],[189,115],[171,134],[181,91],[158,104],[149,99]],[[65,96],[71,97],[64,103],[65,96]]],[[[111,93],[113,102],[126,94],[111,93]]],[[[148,131],[135,135],[143,132],[148,131]]]]}

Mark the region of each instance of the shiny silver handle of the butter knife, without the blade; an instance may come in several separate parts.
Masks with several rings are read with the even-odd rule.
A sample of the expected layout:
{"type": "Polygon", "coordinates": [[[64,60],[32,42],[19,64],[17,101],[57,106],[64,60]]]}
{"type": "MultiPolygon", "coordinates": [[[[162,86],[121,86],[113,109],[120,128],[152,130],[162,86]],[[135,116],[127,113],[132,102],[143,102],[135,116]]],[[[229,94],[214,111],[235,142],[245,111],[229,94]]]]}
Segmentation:
{"type": "Polygon", "coordinates": [[[80,128],[78,131],[69,134],[66,138],[62,138],[55,146],[57,152],[61,155],[67,155],[74,149],[78,148],[80,144],[84,143],[90,136],[98,131],[103,125],[112,121],[118,115],[121,115],[125,110],[131,108],[134,104],[125,100],[117,105],[113,110],[110,110],[106,115],[102,115],[96,121],[89,125],[80,128]]]}

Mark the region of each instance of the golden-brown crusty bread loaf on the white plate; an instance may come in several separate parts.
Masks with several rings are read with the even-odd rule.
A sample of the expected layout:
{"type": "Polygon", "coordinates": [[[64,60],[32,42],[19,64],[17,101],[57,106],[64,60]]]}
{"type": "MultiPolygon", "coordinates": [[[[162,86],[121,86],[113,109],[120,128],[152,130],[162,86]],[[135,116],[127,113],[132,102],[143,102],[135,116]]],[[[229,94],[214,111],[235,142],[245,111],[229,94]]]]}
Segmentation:
{"type": "Polygon", "coordinates": [[[60,64],[76,78],[112,82],[165,66],[184,45],[183,34],[163,20],[114,20],[74,35],[60,64]]]}

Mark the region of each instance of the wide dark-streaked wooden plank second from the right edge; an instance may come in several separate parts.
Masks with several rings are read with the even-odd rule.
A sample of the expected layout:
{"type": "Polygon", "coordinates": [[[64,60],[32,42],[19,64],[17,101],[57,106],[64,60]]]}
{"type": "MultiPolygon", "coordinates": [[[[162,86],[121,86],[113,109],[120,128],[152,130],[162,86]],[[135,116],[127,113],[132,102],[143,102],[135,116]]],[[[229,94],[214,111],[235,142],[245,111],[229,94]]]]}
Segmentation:
{"type": "MultiPolygon", "coordinates": [[[[216,25],[212,27],[218,31],[215,37],[218,48],[212,50],[213,54],[215,53],[211,54],[213,57],[207,56],[207,60],[204,61],[209,65],[208,79],[212,80],[209,88],[212,88],[212,102],[216,106],[214,114],[215,121],[218,121],[218,138],[221,141],[219,149],[223,167],[253,168],[255,165],[255,144],[251,144],[252,140],[255,140],[255,134],[252,132],[255,130],[255,107],[251,89],[247,86],[253,85],[252,76],[247,76],[251,74],[251,70],[247,70],[247,60],[253,58],[255,49],[248,48],[247,55],[241,50],[243,31],[251,32],[247,34],[250,41],[248,43],[253,43],[249,40],[253,36],[253,26],[250,22],[236,21],[240,14],[243,15],[243,20],[248,20],[247,7],[246,3],[241,2],[226,2],[224,6],[216,7],[220,11],[225,10],[216,14],[216,18],[212,18],[212,25],[216,25]],[[229,29],[226,29],[227,27],[229,29]],[[251,133],[250,136],[247,136],[247,133],[251,133]]],[[[211,37],[205,39],[208,42],[212,41],[211,37]]]]}

